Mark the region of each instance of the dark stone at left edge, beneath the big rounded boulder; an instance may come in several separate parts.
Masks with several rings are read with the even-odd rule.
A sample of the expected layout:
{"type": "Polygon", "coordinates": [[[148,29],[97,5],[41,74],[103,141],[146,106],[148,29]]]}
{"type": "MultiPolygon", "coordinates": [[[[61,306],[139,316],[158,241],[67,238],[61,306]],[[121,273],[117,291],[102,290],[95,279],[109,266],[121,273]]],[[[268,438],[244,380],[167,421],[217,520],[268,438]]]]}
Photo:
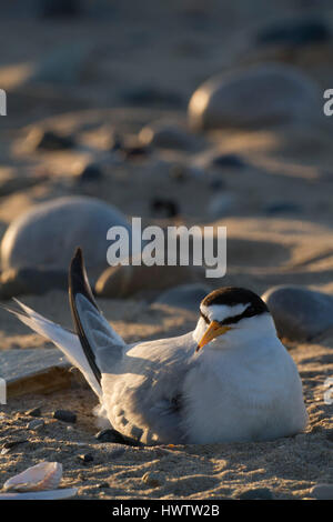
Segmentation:
{"type": "Polygon", "coordinates": [[[68,273],[48,268],[19,268],[4,270],[0,275],[0,299],[18,295],[41,295],[51,290],[68,289],[68,273]]]}

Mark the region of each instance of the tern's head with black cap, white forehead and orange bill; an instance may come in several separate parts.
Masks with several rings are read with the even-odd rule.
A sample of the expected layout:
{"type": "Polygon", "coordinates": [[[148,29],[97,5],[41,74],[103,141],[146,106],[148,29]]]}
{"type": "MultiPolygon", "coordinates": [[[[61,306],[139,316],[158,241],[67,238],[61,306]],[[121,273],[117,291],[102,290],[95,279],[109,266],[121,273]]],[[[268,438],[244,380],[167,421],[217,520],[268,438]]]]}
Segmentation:
{"type": "Polygon", "coordinates": [[[243,345],[272,333],[274,322],[263,300],[251,290],[225,287],[201,301],[193,337],[199,351],[206,344],[214,349],[243,345]]]}

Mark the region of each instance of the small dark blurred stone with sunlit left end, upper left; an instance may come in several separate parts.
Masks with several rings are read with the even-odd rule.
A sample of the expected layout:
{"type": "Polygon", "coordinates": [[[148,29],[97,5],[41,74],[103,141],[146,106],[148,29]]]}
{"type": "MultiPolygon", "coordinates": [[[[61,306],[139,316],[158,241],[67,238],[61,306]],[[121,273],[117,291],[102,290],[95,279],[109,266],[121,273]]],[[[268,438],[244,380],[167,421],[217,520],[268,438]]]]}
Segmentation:
{"type": "Polygon", "coordinates": [[[51,130],[33,127],[26,139],[26,147],[30,150],[60,151],[74,147],[73,138],[62,135],[51,130]]]}

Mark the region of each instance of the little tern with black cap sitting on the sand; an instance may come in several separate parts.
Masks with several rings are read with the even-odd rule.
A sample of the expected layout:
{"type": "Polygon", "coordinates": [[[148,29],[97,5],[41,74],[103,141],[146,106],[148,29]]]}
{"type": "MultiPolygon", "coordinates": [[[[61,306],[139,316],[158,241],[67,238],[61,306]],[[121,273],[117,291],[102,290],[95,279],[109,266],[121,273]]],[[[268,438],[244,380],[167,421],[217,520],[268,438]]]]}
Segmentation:
{"type": "Polygon", "coordinates": [[[80,249],[70,265],[69,298],[75,333],[19,301],[13,313],[81,370],[99,398],[99,415],[124,440],[263,441],[306,426],[296,365],[252,291],[215,290],[201,302],[194,331],[133,344],[99,311],[80,249]]]}

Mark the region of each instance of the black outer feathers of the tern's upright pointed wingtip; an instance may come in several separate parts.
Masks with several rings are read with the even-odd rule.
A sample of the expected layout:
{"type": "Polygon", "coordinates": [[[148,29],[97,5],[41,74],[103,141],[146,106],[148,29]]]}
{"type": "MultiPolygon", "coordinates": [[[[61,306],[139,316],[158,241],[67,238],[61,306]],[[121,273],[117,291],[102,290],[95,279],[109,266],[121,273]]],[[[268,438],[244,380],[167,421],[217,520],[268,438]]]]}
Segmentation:
{"type": "Polygon", "coordinates": [[[95,362],[94,352],[87,339],[84,333],[84,328],[81,323],[80,315],[78,313],[75,297],[78,293],[81,293],[85,299],[88,299],[91,304],[99,311],[99,308],[93,299],[92,291],[88,281],[87,272],[84,269],[84,261],[82,255],[82,250],[80,248],[77,249],[74,257],[70,264],[69,270],[69,301],[71,313],[75,327],[75,331],[81,342],[81,347],[83,352],[87,357],[87,360],[90,364],[90,368],[97,378],[98,382],[101,382],[101,371],[95,362]]]}

